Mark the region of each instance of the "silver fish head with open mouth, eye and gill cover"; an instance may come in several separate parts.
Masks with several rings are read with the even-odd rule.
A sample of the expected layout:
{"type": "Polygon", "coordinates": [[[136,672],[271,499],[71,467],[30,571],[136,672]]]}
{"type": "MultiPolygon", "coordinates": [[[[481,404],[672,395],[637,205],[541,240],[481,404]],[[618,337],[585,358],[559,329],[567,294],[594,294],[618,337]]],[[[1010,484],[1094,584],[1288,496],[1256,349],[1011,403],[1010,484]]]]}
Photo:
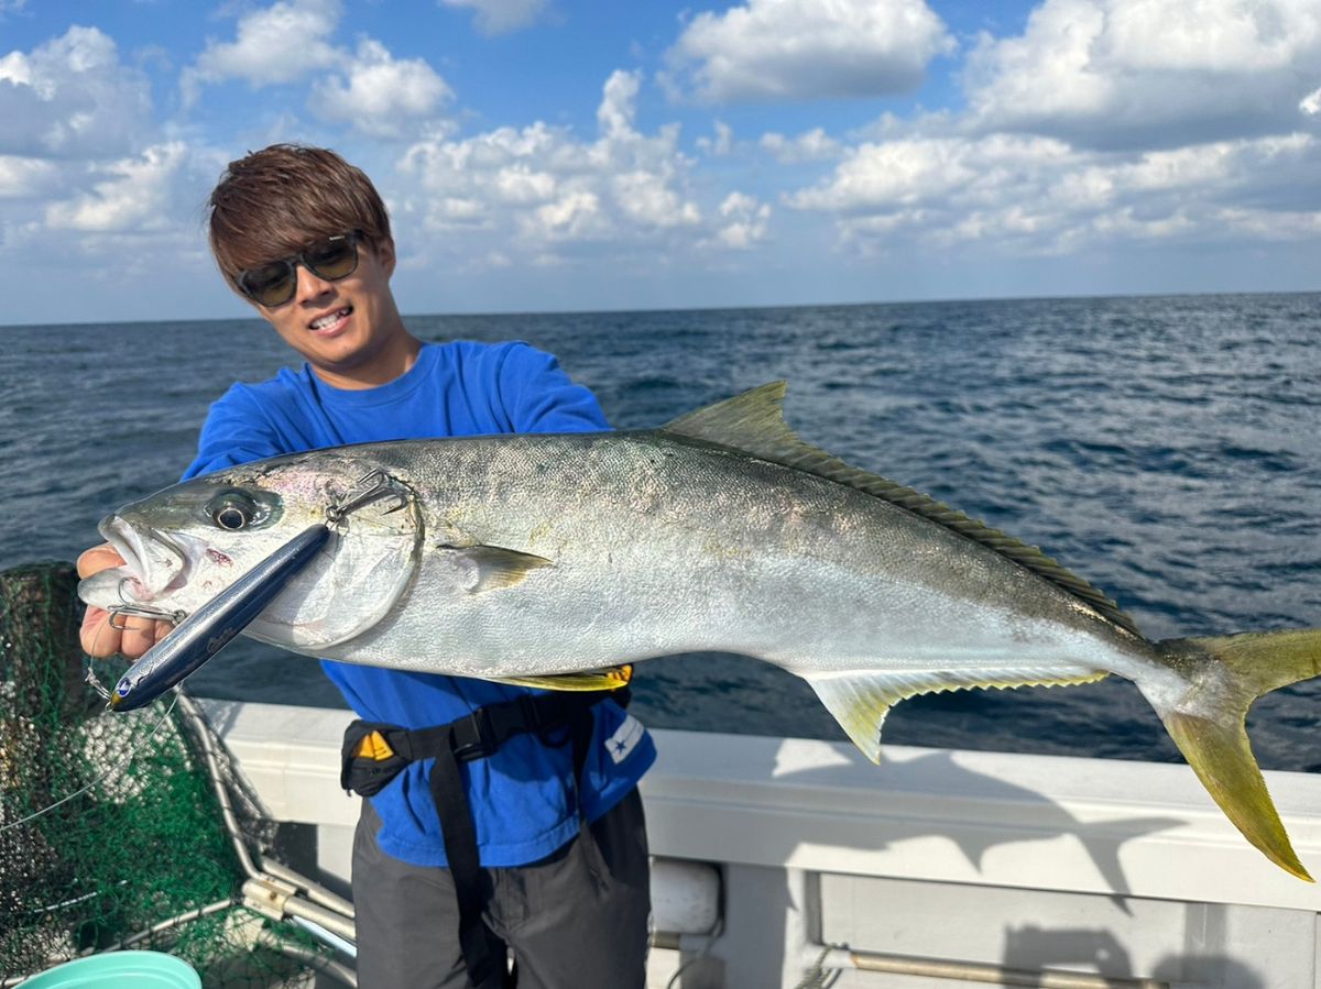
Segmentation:
{"type": "Polygon", "coordinates": [[[351,452],[227,467],[124,506],[99,527],[123,566],[92,574],[78,593],[107,610],[188,615],[316,524],[332,528],[326,547],[246,630],[316,655],[384,619],[420,559],[421,512],[412,489],[351,452]],[[341,516],[339,506],[369,475],[384,496],[341,516]]]}

